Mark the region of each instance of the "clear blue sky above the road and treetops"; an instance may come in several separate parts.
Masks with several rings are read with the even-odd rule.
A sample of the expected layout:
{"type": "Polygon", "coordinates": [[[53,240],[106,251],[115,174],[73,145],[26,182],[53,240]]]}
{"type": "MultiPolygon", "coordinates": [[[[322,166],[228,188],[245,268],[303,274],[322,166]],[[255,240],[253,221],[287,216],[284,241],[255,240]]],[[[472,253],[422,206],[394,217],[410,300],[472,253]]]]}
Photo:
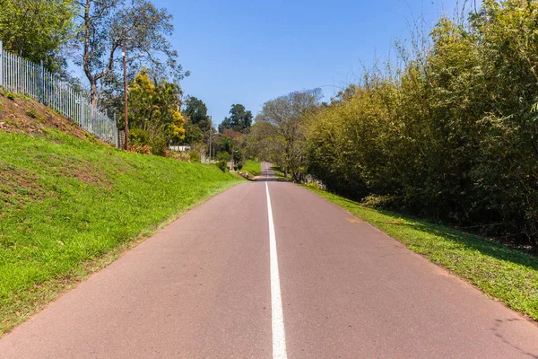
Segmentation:
{"type": "MultiPolygon", "coordinates": [[[[321,87],[329,99],[357,82],[361,63],[386,59],[409,24],[452,15],[457,0],[154,0],[174,16],[172,43],[191,75],[186,94],[205,102],[215,124],[241,103],[321,87]]],[[[394,50],[393,50],[394,52],[394,50]]]]}

